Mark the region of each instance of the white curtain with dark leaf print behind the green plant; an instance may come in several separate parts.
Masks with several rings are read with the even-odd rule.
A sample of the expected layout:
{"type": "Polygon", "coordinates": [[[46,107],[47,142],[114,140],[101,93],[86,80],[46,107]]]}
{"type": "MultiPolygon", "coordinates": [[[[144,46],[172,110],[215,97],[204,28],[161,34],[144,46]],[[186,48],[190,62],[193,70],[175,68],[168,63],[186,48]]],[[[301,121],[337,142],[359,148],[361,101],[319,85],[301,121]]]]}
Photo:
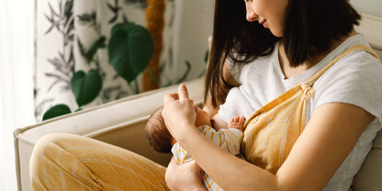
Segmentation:
{"type": "MultiPolygon", "coordinates": [[[[172,75],[175,70],[173,54],[168,52],[173,49],[175,2],[166,0],[165,4],[162,74],[175,78],[177,76],[172,75]]],[[[97,70],[103,82],[100,94],[81,108],[133,95],[137,86],[140,89],[142,74],[138,76],[138,85],[126,83],[109,63],[107,48],[98,49],[92,59],[87,58],[86,53],[101,38],[105,39],[107,46],[110,31],[117,23],[134,22],[146,26],[146,6],[146,0],[37,0],[37,121],[41,121],[53,105],[68,105],[72,112],[79,109],[71,87],[71,78],[79,70],[84,73],[97,70]]]]}

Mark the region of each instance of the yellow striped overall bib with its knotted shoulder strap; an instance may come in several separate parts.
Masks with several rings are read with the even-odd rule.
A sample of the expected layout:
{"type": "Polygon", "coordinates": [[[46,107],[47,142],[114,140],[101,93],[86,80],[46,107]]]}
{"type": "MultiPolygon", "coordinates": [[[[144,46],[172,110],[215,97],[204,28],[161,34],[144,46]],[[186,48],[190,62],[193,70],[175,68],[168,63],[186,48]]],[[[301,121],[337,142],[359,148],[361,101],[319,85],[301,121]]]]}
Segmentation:
{"type": "Polygon", "coordinates": [[[320,70],[310,81],[284,92],[247,119],[241,153],[248,162],[276,174],[304,130],[306,100],[314,95],[314,82],[338,60],[357,50],[369,52],[379,59],[369,47],[355,45],[320,70]]]}

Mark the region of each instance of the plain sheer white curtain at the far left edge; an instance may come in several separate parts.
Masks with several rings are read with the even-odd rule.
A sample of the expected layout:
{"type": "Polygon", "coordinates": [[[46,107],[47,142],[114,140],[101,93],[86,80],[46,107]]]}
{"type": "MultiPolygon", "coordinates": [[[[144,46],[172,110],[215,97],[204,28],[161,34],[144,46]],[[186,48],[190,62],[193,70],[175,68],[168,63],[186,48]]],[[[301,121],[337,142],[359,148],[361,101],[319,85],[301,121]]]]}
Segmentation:
{"type": "Polygon", "coordinates": [[[35,123],[34,2],[0,0],[0,189],[17,190],[13,130],[35,123]]]}

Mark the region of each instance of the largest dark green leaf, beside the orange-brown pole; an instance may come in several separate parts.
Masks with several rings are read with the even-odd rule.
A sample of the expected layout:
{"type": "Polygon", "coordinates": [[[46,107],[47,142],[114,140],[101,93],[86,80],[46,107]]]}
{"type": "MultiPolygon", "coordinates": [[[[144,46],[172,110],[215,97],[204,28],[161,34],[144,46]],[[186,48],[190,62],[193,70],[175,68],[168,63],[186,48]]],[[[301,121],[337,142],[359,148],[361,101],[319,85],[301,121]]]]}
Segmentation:
{"type": "Polygon", "coordinates": [[[147,68],[153,53],[151,35],[144,27],[120,23],[112,28],[108,43],[109,61],[128,83],[147,68]]]}

